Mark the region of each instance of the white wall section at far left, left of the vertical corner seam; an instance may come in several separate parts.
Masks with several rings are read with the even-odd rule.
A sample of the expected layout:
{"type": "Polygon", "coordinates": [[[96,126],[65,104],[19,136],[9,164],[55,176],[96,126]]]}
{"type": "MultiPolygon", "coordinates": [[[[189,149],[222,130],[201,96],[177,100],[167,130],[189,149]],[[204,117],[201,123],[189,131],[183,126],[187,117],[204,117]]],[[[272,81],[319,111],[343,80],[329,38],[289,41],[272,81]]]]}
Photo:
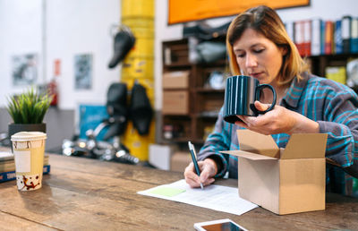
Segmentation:
{"type": "MultiPolygon", "coordinates": [[[[41,0],[0,1],[0,105],[6,96],[21,92],[13,88],[12,57],[41,53],[41,0]],[[19,7],[21,5],[21,7],[19,7]]],[[[40,65],[39,68],[42,66],[40,65]]],[[[41,77],[40,77],[41,78],[41,77]]]]}

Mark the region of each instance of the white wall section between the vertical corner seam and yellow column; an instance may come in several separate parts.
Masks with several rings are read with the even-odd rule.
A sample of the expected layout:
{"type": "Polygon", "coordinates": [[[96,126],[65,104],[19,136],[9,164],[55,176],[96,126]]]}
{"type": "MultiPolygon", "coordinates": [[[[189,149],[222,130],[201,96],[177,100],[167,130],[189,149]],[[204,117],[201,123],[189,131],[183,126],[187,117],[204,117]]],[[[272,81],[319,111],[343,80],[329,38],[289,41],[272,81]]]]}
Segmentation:
{"type": "Polygon", "coordinates": [[[120,65],[107,68],[113,54],[110,28],[119,21],[118,0],[47,1],[47,77],[53,75],[54,60],[61,59],[62,108],[73,108],[79,103],[106,104],[109,84],[120,80],[120,65]],[[73,56],[89,53],[93,56],[92,89],[74,90],[73,56]]]}

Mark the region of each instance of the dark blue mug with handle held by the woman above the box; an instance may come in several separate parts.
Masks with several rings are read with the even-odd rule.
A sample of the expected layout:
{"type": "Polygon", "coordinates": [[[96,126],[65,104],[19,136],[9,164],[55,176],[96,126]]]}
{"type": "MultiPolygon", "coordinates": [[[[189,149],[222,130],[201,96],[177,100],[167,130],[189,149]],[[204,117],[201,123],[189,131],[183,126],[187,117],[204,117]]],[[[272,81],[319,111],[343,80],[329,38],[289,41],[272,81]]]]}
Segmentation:
{"type": "Polygon", "coordinates": [[[234,124],[240,121],[240,116],[259,116],[275,107],[276,91],[269,84],[260,84],[260,82],[250,76],[235,75],[226,79],[226,90],[224,99],[224,120],[234,124]],[[272,105],[266,111],[259,111],[253,105],[256,100],[260,100],[261,90],[268,88],[272,91],[272,105]]]}

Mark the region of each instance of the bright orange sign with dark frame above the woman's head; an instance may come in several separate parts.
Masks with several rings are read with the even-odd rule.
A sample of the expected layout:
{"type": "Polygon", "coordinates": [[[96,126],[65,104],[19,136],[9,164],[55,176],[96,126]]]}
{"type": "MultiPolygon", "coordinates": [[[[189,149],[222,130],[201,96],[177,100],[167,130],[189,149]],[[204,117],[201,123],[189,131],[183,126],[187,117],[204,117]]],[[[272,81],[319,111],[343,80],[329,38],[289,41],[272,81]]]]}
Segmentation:
{"type": "Polygon", "coordinates": [[[168,24],[231,16],[265,4],[273,9],[310,5],[310,0],[168,0],[168,24]]]}

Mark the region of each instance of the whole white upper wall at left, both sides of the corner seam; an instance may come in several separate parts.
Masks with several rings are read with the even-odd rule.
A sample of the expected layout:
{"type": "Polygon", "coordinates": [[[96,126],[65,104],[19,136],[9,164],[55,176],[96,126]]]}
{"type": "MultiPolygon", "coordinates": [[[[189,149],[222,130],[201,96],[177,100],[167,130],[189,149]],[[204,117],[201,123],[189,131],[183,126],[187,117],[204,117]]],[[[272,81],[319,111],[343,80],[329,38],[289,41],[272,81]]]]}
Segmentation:
{"type": "Polygon", "coordinates": [[[0,0],[0,107],[5,96],[21,92],[24,87],[13,87],[11,56],[38,54],[38,82],[50,81],[55,59],[61,60],[59,78],[59,107],[73,109],[80,103],[105,104],[107,88],[120,80],[120,65],[108,69],[113,55],[110,28],[120,21],[119,0],[0,0]],[[46,15],[43,4],[46,3],[46,15]],[[42,17],[44,16],[44,17],[42,17]],[[46,19],[45,34],[42,30],[46,19]],[[43,52],[43,36],[46,38],[43,52]],[[74,56],[93,55],[92,89],[74,89],[74,56]],[[46,75],[43,74],[43,56],[46,56],[46,75]]]}

